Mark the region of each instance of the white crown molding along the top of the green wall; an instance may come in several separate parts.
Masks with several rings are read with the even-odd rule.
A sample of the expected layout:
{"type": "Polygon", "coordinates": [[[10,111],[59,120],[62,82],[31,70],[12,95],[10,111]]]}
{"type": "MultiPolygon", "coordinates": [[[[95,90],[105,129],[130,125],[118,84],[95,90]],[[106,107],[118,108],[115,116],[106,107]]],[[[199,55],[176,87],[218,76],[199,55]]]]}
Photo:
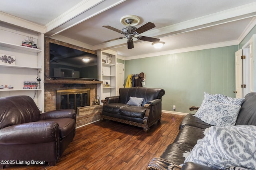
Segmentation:
{"type": "Polygon", "coordinates": [[[177,54],[177,53],[184,53],[184,52],[190,52],[190,51],[198,51],[198,50],[204,50],[204,49],[213,49],[218,47],[227,47],[231,45],[238,45],[238,40],[235,41],[226,41],[222,43],[213,43],[213,44],[207,44],[207,45],[200,45],[195,47],[188,47],[183,49],[175,49],[175,50],[169,50],[169,51],[161,51],[157,53],[150,53],[150,54],[144,54],[144,55],[137,55],[137,56],[131,56],[131,57],[125,57],[126,60],[134,60],[134,59],[142,59],[147,57],[156,57],[161,55],[170,55],[170,54],[177,54]]]}

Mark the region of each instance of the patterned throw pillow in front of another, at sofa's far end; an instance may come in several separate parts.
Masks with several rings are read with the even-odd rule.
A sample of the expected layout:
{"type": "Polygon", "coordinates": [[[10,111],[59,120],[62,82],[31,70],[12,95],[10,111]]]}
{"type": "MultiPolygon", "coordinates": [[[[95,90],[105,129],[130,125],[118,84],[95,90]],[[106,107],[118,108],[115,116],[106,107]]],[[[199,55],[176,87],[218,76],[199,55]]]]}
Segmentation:
{"type": "Polygon", "coordinates": [[[207,105],[201,108],[201,120],[214,126],[235,125],[240,108],[241,106],[208,100],[207,105]]]}

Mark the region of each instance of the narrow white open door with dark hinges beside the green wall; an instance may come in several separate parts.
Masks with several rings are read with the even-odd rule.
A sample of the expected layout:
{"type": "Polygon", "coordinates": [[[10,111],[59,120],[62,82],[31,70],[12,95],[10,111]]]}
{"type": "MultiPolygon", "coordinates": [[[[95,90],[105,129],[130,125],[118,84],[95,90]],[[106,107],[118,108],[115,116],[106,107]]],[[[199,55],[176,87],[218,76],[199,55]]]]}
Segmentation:
{"type": "Polygon", "coordinates": [[[241,85],[243,84],[243,63],[241,56],[243,55],[243,50],[240,49],[236,51],[236,90],[234,93],[236,93],[236,98],[243,98],[243,89],[241,85]]]}

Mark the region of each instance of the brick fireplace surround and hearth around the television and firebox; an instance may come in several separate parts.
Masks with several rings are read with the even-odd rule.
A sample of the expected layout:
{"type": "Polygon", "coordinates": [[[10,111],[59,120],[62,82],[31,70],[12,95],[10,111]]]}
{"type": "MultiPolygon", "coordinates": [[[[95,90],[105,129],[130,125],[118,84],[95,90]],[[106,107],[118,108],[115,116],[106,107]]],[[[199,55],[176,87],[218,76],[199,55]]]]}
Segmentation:
{"type": "MultiPolygon", "coordinates": [[[[55,44],[63,45],[66,47],[85,51],[88,53],[96,54],[96,51],[88,50],[72,44],[64,43],[62,41],[44,37],[44,75],[45,75],[44,80],[50,80],[49,78],[49,75],[50,75],[49,43],[55,43],[55,44]]],[[[70,79],[58,78],[58,80],[70,80],[70,79]]],[[[56,110],[56,90],[82,89],[82,88],[90,88],[90,106],[91,106],[94,100],[94,97],[97,96],[97,84],[74,84],[74,86],[71,86],[71,87],[66,87],[64,86],[64,84],[44,84],[44,110],[45,111],[56,110]]],[[[84,115],[84,116],[77,116],[76,127],[85,125],[87,123],[90,123],[92,121],[96,121],[99,119],[100,119],[99,113],[84,115]]]]}

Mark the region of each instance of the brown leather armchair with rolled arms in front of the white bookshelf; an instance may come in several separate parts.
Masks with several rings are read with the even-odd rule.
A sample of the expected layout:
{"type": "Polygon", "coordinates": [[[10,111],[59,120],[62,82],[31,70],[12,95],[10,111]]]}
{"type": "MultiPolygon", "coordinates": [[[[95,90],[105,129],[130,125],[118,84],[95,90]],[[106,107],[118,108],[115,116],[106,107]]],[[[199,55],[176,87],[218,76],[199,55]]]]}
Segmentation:
{"type": "Polygon", "coordinates": [[[75,126],[74,109],[40,114],[29,96],[0,98],[0,168],[20,161],[54,166],[73,140],[75,126]]]}

